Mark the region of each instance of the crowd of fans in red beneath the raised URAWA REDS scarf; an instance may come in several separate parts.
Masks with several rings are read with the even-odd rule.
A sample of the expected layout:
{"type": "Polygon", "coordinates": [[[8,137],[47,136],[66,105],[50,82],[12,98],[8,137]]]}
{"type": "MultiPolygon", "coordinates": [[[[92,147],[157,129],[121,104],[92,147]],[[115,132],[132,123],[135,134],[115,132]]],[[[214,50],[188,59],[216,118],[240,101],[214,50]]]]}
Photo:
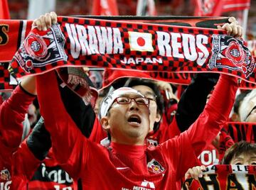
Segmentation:
{"type": "MultiPolygon", "coordinates": [[[[55,23],[55,13],[34,26],[43,22],[55,23]]],[[[231,18],[223,29],[239,37],[238,27],[231,18]]],[[[183,177],[198,179],[204,166],[256,164],[255,142],[235,143],[225,128],[256,121],[256,91],[236,93],[235,77],[194,74],[177,96],[177,84],[149,79],[122,78],[102,89],[102,71],[84,72],[99,90],[95,104],[60,85],[54,71],[1,94],[6,188],[181,189],[183,177]]]]}

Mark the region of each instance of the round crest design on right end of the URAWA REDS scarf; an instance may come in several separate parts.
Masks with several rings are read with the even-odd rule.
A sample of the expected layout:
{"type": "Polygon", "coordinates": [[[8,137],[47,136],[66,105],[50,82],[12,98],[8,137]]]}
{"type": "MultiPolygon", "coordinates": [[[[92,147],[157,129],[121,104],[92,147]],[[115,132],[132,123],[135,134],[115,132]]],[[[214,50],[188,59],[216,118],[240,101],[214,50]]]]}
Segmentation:
{"type": "Polygon", "coordinates": [[[249,77],[255,69],[255,60],[242,40],[229,35],[213,35],[212,55],[208,67],[238,70],[249,77]]]}

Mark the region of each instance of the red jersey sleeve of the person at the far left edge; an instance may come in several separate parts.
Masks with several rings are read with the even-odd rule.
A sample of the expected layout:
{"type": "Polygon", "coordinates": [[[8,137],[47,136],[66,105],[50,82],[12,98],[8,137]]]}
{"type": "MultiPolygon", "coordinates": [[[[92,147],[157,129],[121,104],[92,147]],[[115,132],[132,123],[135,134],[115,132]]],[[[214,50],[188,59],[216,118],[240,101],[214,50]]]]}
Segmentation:
{"type": "Polygon", "coordinates": [[[35,97],[17,86],[0,106],[0,189],[9,189],[11,184],[12,155],[21,144],[22,122],[35,97]]]}

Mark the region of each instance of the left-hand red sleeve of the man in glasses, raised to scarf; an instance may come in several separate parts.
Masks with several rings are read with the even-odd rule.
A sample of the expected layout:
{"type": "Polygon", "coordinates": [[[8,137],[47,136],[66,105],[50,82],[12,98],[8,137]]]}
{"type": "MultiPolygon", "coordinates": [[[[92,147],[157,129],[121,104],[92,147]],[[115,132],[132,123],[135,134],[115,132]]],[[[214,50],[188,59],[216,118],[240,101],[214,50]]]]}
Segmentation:
{"type": "Polygon", "coordinates": [[[87,139],[65,110],[55,72],[38,75],[36,88],[41,115],[51,136],[55,158],[70,176],[76,179],[80,172],[85,170],[88,157],[85,151],[87,139]]]}

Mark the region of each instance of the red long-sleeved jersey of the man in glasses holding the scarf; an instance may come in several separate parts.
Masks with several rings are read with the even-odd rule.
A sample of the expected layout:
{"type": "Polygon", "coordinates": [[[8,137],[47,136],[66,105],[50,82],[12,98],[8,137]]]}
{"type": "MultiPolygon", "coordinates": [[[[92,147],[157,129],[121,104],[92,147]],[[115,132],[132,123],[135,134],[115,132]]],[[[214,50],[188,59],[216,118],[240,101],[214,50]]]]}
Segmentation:
{"type": "Polygon", "coordinates": [[[60,101],[54,72],[37,76],[38,100],[58,162],[83,189],[176,189],[197,156],[228,120],[238,85],[222,76],[211,101],[193,125],[157,147],[112,143],[110,148],[87,140],[60,101]],[[223,106],[225,104],[225,106],[223,106]],[[134,152],[132,152],[134,151],[134,152]]]}

